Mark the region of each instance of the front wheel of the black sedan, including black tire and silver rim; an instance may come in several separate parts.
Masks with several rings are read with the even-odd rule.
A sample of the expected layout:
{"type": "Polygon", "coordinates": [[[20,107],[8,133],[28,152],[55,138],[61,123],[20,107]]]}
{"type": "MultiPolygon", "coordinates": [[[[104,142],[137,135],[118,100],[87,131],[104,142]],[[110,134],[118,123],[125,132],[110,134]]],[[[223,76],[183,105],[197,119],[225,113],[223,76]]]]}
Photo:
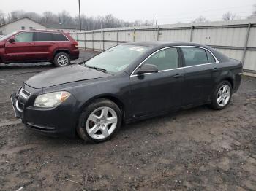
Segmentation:
{"type": "Polygon", "coordinates": [[[78,136],[99,143],[111,139],[121,127],[121,109],[108,99],[97,99],[80,114],[78,136]]]}

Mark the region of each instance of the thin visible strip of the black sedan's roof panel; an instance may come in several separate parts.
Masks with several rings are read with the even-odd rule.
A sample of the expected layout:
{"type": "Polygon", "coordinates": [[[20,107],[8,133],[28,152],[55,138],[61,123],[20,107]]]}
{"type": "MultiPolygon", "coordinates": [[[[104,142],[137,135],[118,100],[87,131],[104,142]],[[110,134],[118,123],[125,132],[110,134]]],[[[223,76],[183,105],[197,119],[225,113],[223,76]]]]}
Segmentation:
{"type": "MultiPolygon", "coordinates": [[[[206,47],[202,44],[194,42],[165,42],[165,41],[154,41],[154,42],[128,42],[127,45],[143,46],[143,47],[171,47],[171,46],[196,46],[206,47]]],[[[208,48],[208,47],[207,47],[208,48]]]]}

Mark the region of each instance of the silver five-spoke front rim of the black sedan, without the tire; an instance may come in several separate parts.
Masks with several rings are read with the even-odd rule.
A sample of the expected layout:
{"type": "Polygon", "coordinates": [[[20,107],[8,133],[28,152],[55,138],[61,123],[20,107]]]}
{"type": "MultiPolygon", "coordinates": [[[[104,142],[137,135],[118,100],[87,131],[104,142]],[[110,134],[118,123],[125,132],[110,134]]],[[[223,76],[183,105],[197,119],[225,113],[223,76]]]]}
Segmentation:
{"type": "Polygon", "coordinates": [[[95,109],[86,120],[86,131],[93,139],[106,139],[116,129],[118,117],[108,106],[95,109]]]}

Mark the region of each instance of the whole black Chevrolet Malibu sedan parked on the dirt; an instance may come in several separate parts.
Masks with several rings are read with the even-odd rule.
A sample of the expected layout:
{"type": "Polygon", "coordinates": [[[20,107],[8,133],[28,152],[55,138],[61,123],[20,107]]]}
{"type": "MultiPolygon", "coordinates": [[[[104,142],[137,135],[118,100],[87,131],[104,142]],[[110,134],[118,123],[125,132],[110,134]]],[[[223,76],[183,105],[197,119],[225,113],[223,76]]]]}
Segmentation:
{"type": "Polygon", "coordinates": [[[102,142],[123,123],[202,104],[224,109],[241,72],[240,61],[211,47],[133,42],[37,74],[11,101],[15,116],[32,130],[102,142]]]}

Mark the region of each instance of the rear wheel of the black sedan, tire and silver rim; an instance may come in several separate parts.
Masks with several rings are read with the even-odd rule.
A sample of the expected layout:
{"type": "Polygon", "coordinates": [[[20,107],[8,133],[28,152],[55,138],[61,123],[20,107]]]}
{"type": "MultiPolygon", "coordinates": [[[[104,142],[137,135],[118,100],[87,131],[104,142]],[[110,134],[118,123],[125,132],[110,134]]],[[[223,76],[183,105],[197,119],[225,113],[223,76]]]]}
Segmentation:
{"type": "Polygon", "coordinates": [[[228,81],[222,81],[217,85],[216,90],[211,95],[211,108],[215,110],[224,109],[232,97],[232,85],[228,81]]]}

